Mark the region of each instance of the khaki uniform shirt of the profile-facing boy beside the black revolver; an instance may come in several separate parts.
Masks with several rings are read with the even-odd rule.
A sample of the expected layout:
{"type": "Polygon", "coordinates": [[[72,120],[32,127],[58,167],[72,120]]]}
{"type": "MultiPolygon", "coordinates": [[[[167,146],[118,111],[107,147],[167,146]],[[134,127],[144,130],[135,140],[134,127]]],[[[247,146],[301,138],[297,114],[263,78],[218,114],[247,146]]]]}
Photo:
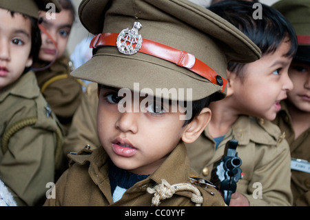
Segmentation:
{"type": "Polygon", "coordinates": [[[217,150],[206,129],[197,141],[186,144],[192,168],[210,179],[214,162],[223,157],[226,142],[233,138],[238,141],[236,152],[244,173],[237,182],[237,191],[247,197],[250,206],[290,206],[289,146],[270,121],[259,123],[252,117],[240,116],[217,150]]]}

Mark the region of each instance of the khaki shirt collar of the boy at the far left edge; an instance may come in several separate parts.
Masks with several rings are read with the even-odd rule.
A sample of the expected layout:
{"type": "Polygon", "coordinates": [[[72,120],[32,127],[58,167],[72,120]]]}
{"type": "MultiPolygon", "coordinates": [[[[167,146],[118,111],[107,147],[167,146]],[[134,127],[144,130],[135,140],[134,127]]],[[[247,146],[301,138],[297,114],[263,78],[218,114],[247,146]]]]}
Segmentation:
{"type": "Polygon", "coordinates": [[[22,74],[14,83],[3,88],[0,94],[0,102],[6,99],[9,94],[25,99],[34,99],[39,96],[39,93],[40,90],[34,72],[29,71],[22,74]]]}

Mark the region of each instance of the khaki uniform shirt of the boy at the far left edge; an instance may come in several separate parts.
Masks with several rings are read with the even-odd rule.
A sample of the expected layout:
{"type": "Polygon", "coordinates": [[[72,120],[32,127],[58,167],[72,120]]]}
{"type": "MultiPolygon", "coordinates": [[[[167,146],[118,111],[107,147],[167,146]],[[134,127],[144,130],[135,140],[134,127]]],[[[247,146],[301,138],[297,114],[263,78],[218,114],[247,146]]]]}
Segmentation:
{"type": "Polygon", "coordinates": [[[18,205],[43,204],[46,183],[54,181],[57,124],[47,110],[34,72],[23,74],[0,93],[0,179],[10,188],[18,205]],[[3,134],[17,121],[35,117],[9,139],[3,149],[3,134]]]}

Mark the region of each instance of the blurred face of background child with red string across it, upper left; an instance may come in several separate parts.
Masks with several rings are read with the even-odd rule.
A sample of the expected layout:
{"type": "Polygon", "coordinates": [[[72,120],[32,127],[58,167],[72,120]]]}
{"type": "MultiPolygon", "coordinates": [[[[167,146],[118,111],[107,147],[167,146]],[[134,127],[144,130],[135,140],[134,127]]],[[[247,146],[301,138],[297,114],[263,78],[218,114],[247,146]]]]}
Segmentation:
{"type": "MultiPolygon", "coordinates": [[[[46,12],[40,12],[39,17],[43,19],[43,27],[45,30],[47,30],[47,32],[57,44],[58,59],[59,57],[63,56],[67,48],[69,34],[73,23],[72,14],[70,10],[61,10],[59,13],[54,13],[54,19],[52,17],[47,19],[45,15],[46,12]]],[[[44,32],[41,32],[41,38],[42,46],[39,52],[39,59],[42,61],[50,62],[56,55],[56,47],[48,35],[46,35],[44,32]]]]}

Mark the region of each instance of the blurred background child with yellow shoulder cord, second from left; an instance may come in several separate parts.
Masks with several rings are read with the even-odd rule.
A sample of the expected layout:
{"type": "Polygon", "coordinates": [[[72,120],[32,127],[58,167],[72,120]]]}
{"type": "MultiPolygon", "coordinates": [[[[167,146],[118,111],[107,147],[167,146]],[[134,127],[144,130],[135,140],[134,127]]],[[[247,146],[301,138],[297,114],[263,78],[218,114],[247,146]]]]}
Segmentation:
{"type": "Polygon", "coordinates": [[[55,13],[54,19],[48,19],[45,12],[39,14],[41,25],[47,32],[41,32],[42,46],[39,59],[34,63],[34,71],[43,97],[67,134],[83,91],[81,81],[70,77],[74,67],[66,54],[75,17],[74,6],[70,0],[59,0],[59,4],[62,10],[55,13]]]}

